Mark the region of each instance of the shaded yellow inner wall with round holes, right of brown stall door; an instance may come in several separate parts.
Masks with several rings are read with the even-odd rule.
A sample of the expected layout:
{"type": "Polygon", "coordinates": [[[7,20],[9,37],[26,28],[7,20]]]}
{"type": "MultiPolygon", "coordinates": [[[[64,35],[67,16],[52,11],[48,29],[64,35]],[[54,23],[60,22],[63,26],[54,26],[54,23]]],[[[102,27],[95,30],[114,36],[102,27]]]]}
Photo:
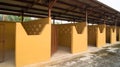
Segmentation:
{"type": "Polygon", "coordinates": [[[64,47],[71,47],[72,42],[72,25],[60,24],[57,26],[58,45],[64,47]]]}

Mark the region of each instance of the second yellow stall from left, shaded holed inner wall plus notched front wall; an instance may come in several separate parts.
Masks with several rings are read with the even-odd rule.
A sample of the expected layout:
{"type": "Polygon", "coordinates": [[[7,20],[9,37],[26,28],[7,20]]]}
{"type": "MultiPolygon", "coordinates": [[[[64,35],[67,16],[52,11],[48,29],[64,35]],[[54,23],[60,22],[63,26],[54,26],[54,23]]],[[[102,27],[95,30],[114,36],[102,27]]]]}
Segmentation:
{"type": "Polygon", "coordinates": [[[57,24],[58,44],[71,48],[71,53],[87,50],[87,25],[85,22],[75,24],[57,24]]]}

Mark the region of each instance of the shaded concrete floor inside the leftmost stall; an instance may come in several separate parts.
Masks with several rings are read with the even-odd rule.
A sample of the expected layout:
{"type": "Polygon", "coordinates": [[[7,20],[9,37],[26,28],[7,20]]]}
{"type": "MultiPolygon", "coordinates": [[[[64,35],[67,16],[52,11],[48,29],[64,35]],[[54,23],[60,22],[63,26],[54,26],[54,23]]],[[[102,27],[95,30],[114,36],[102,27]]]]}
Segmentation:
{"type": "Polygon", "coordinates": [[[13,50],[5,52],[5,60],[0,63],[0,67],[15,67],[15,53],[13,50]]]}

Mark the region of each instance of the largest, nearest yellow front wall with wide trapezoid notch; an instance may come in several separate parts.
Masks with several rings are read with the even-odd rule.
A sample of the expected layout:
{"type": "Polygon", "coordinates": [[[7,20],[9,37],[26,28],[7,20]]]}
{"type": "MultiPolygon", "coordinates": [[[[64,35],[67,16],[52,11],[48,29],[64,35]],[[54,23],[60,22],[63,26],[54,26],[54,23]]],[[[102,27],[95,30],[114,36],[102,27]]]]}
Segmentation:
{"type": "Polygon", "coordinates": [[[16,67],[46,61],[50,56],[51,18],[16,23],[16,67]]]}

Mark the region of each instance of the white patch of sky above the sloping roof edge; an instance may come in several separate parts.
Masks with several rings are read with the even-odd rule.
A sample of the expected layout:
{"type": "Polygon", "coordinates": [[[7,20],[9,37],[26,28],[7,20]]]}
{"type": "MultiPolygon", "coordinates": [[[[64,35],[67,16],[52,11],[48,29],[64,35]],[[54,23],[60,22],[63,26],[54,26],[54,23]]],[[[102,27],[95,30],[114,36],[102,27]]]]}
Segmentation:
{"type": "Polygon", "coordinates": [[[120,12],[120,0],[98,0],[120,12]]]}

